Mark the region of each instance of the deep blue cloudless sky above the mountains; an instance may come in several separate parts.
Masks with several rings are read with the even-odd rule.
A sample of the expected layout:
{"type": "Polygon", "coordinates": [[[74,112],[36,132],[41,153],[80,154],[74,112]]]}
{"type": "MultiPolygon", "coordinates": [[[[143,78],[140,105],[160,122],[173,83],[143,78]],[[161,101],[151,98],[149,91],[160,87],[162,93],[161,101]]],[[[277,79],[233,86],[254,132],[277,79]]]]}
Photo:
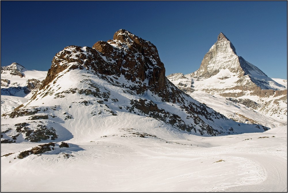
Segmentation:
{"type": "Polygon", "coordinates": [[[166,75],[196,71],[223,32],[237,55],[287,79],[287,1],[1,1],[1,66],[48,70],[64,47],[119,29],[153,43],[166,75]]]}

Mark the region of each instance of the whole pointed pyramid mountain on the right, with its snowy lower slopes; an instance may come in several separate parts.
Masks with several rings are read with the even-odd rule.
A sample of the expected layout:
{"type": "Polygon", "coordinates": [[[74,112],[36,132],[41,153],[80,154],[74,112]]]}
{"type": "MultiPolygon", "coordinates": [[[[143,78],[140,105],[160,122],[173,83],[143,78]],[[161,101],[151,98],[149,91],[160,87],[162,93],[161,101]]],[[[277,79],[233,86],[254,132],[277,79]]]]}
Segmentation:
{"type": "Polygon", "coordinates": [[[274,126],[287,124],[287,88],[279,84],[287,84],[287,80],[275,81],[256,66],[237,56],[234,46],[223,33],[218,35],[217,42],[206,53],[196,72],[186,75],[170,74],[167,78],[194,99],[205,102],[214,110],[234,120],[262,124],[267,122],[267,125],[276,124],[274,126]],[[206,95],[205,99],[200,97],[203,94],[206,95]],[[252,115],[255,113],[249,113],[250,116],[243,108],[223,108],[231,101],[243,104],[253,112],[266,115],[263,119],[267,121],[262,122],[263,119],[259,120],[258,116],[252,115]],[[215,106],[217,103],[218,107],[215,106]]]}

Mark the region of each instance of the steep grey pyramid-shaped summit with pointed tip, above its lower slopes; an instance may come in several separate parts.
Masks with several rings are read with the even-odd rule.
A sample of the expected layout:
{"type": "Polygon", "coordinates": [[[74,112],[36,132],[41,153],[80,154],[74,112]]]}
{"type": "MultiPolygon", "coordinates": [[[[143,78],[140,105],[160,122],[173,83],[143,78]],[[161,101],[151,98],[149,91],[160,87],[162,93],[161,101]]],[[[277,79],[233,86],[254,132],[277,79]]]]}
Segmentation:
{"type": "Polygon", "coordinates": [[[255,86],[261,89],[285,89],[285,86],[276,83],[259,68],[237,56],[235,47],[221,32],[218,35],[217,42],[204,56],[200,68],[191,76],[200,79],[211,78],[212,76],[226,79],[231,75],[239,78],[237,85],[249,87],[250,89],[255,86]],[[226,76],[225,74],[229,75],[226,76]]]}

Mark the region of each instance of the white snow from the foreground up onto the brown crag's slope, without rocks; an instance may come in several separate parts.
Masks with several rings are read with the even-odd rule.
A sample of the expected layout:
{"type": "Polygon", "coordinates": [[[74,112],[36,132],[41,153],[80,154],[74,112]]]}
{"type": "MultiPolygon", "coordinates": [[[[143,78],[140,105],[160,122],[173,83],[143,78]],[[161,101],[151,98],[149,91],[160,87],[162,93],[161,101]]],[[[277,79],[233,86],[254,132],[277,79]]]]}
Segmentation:
{"type": "MultiPolygon", "coordinates": [[[[123,76],[117,81],[120,85],[130,84],[123,76]]],[[[287,126],[260,133],[250,131],[239,135],[196,136],[179,131],[163,121],[125,112],[129,101],[137,100],[139,96],[124,92],[123,88],[107,84],[105,80],[84,74],[81,70],[60,72],[57,83],[51,84],[49,89],[40,93],[38,100],[24,105],[40,108],[55,106],[56,111],[48,109],[43,112],[43,115],[55,117],[41,121],[57,130],[58,138],[52,142],[65,141],[69,148],[55,148],[41,155],[32,154],[18,159],[20,152],[51,140],[33,143],[19,136],[16,143],[2,143],[3,192],[287,190],[287,126]],[[85,106],[78,102],[94,102],[91,96],[61,93],[73,88],[87,88],[83,77],[89,78],[90,83],[97,83],[101,90],[107,89],[111,93],[110,98],[117,98],[118,102],[113,104],[109,99],[109,108],[105,107],[105,103],[85,106]],[[52,92],[54,90],[60,94],[52,92]],[[65,98],[55,98],[56,95],[64,95],[65,98]],[[119,107],[123,107],[122,110],[119,107]],[[105,113],[105,109],[112,110],[117,116],[105,113]],[[98,110],[102,113],[98,114],[98,110]],[[65,120],[68,115],[73,118],[65,120]]],[[[161,102],[150,91],[145,98],[166,110],[175,110],[172,105],[177,107],[176,104],[161,102]]],[[[179,116],[184,116],[180,108],[179,116]]],[[[35,121],[27,120],[27,116],[14,119],[1,117],[1,124],[5,124],[1,125],[1,131],[7,129],[7,124],[23,122],[33,125],[35,121]]]]}

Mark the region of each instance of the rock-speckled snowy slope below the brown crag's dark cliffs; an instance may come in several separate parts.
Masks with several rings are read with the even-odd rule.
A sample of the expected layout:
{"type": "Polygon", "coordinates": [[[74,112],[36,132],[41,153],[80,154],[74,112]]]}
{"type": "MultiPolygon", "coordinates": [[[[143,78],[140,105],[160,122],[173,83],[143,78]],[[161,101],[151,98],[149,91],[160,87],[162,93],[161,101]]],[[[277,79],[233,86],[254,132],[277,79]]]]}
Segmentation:
{"type": "Polygon", "coordinates": [[[13,141],[13,136],[17,138],[16,143],[23,140],[46,141],[45,139],[50,138],[57,141],[71,138],[86,141],[91,135],[115,134],[119,128],[133,128],[136,123],[139,123],[139,127],[142,128],[140,132],[149,133],[149,129],[145,129],[147,124],[142,122],[146,117],[156,120],[157,124],[154,123],[153,129],[165,125],[169,130],[180,130],[182,125],[186,125],[186,128],[181,129],[204,136],[263,132],[263,129],[267,129],[261,125],[237,123],[226,119],[188,96],[184,98],[187,104],[192,105],[193,102],[193,105],[198,106],[197,108],[207,108],[207,114],[197,115],[184,111],[181,104],[163,102],[149,90],[144,95],[137,95],[127,89],[131,83],[123,77],[118,78],[117,85],[126,85],[124,88],[84,72],[84,70],[63,72],[55,82],[56,86],[40,91],[35,100],[30,100],[17,110],[2,115],[1,124],[4,125],[1,126],[1,132],[5,133],[1,141],[13,141]],[[50,93],[52,90],[55,92],[50,93]],[[143,102],[144,107],[153,108],[154,111],[147,112],[145,108],[141,110],[138,102],[143,102]],[[135,118],[128,123],[124,122],[123,120],[131,114],[135,118]],[[17,130],[18,124],[23,122],[25,125],[22,125],[21,130],[17,130]],[[43,128],[41,135],[39,135],[39,127],[43,128]],[[188,130],[189,127],[194,130],[188,130]],[[210,130],[211,128],[213,130],[210,130]],[[46,137],[43,138],[43,135],[46,137]]]}

